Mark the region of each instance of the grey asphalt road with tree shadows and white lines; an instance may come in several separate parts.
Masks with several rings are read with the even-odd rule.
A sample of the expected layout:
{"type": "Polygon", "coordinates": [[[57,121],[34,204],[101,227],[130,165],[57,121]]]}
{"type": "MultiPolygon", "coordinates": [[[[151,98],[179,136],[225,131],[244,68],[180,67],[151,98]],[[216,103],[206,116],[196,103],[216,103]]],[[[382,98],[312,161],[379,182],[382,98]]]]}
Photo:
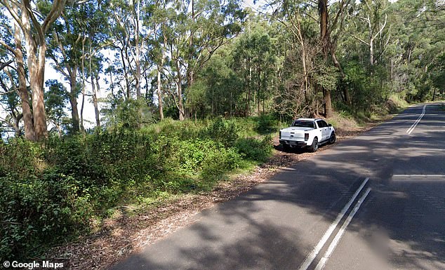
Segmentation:
{"type": "Polygon", "coordinates": [[[112,269],[443,270],[444,142],[445,106],[411,107],[112,269]]]}

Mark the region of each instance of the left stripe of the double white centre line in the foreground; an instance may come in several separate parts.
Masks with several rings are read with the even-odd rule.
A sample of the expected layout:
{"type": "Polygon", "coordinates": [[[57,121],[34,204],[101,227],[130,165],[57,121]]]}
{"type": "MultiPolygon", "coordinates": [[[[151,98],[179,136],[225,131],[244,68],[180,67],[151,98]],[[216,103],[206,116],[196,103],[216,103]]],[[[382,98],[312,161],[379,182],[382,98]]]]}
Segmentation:
{"type": "Polygon", "coordinates": [[[323,248],[324,244],[326,244],[326,241],[328,241],[328,238],[331,237],[331,234],[336,229],[338,223],[343,218],[343,216],[346,214],[347,210],[350,208],[352,203],[354,202],[355,198],[359,195],[361,189],[365,186],[365,184],[368,182],[369,178],[367,177],[360,185],[359,189],[355,191],[354,195],[352,195],[352,198],[350,201],[345,205],[345,207],[341,210],[341,212],[337,215],[336,220],[334,220],[329,226],[328,230],[324,233],[323,237],[321,237],[319,243],[315,246],[314,250],[310,252],[309,255],[307,255],[305,262],[301,264],[300,268],[298,270],[307,270],[309,268],[310,264],[314,261],[315,257],[319,254],[321,248],[323,248]]]}

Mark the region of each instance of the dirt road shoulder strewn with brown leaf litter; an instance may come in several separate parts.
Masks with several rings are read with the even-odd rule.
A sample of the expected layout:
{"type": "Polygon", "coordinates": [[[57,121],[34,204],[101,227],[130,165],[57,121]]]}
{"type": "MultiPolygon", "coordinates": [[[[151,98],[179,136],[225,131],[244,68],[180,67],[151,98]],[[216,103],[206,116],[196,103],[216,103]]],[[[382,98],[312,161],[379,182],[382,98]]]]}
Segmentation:
{"type": "MultiPolygon", "coordinates": [[[[342,125],[344,128],[337,128],[337,140],[342,141],[357,136],[378,123],[381,121],[367,123],[362,128],[342,125]]],[[[118,217],[107,220],[98,233],[53,248],[46,255],[46,259],[63,262],[66,267],[64,269],[107,269],[131,253],[138,252],[173,231],[187,226],[193,222],[194,215],[202,210],[229,201],[279,173],[281,168],[292,166],[318,153],[282,151],[278,137],[274,138],[273,143],[275,149],[272,158],[255,168],[252,173],[223,182],[211,192],[182,196],[139,215],[128,216],[123,210],[118,217]]],[[[319,151],[325,151],[330,147],[332,146],[326,145],[319,151]]]]}

